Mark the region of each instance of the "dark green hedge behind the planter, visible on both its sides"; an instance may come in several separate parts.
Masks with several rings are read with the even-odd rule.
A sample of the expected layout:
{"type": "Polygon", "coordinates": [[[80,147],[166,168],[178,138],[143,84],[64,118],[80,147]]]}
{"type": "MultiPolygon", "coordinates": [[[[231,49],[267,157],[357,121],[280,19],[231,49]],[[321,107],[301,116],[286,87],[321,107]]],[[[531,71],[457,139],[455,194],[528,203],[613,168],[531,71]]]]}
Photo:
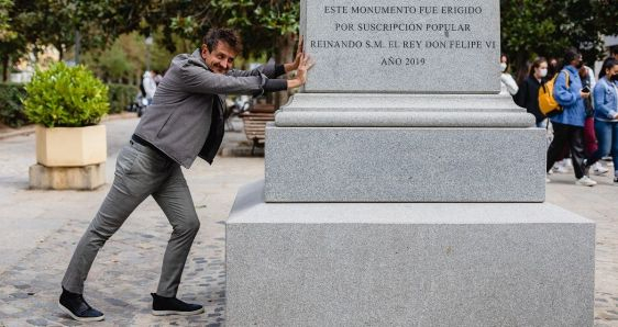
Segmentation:
{"type": "MultiPolygon", "coordinates": [[[[110,113],[120,113],[133,102],[137,87],[129,84],[108,84],[110,113]]],[[[0,82],[0,121],[11,127],[30,124],[23,112],[21,99],[26,97],[24,84],[0,82]]]]}

